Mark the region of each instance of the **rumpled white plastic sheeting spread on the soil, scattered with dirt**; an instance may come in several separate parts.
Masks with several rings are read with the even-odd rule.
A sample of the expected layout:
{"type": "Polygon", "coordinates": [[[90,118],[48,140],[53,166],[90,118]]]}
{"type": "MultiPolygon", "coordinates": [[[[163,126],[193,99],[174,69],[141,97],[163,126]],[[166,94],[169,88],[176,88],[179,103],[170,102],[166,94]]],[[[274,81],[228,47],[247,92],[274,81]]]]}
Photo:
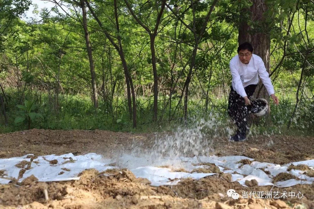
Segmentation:
{"type": "MultiPolygon", "coordinates": [[[[13,157],[8,159],[0,159],[0,170],[4,170],[4,174],[0,177],[0,184],[9,183],[11,178],[18,179],[19,171],[15,165],[23,160],[30,162],[30,155],[22,157],[13,157]]],[[[34,175],[39,181],[64,181],[77,180],[78,174],[85,169],[94,168],[100,172],[113,168],[128,168],[136,177],[147,178],[151,181],[151,185],[175,185],[180,179],[191,177],[200,179],[205,176],[214,175],[214,173],[187,173],[187,172],[172,172],[170,168],[183,168],[191,172],[196,168],[206,168],[202,163],[214,163],[224,173],[232,175],[232,181],[238,181],[241,185],[245,185],[246,180],[255,179],[258,185],[276,185],[278,187],[288,187],[297,184],[312,184],[314,177],[309,177],[301,170],[290,170],[287,168],[290,164],[276,165],[272,163],[260,163],[253,161],[254,159],[244,156],[199,156],[199,157],[177,157],[176,159],[163,158],[155,161],[152,165],[151,160],[147,158],[137,158],[131,155],[123,155],[119,159],[104,159],[101,155],[89,153],[85,155],[74,156],[72,153],[63,155],[46,155],[38,156],[30,165],[30,169],[26,170],[23,179],[34,175]],[[250,165],[243,165],[239,163],[242,159],[249,159],[252,161],[250,165]],[[57,164],[51,164],[51,160],[57,160],[57,164]],[[110,166],[115,163],[116,166],[110,166]],[[150,165],[149,165],[150,164],[150,165]],[[196,165],[197,164],[197,165],[196,165]],[[170,168],[160,168],[159,165],[168,165],[170,168]],[[228,170],[226,170],[227,168],[228,170]],[[267,175],[263,170],[269,171],[267,175]],[[69,170],[69,171],[68,171],[69,170]],[[236,171],[238,174],[233,174],[236,171]],[[272,183],[272,178],[277,174],[285,172],[297,176],[300,180],[290,179],[286,181],[272,183]]],[[[293,162],[294,165],[308,165],[314,169],[314,160],[306,160],[300,162],[293,162]]],[[[27,166],[27,165],[26,165],[27,166]]],[[[25,166],[25,168],[26,168],[25,166]]]]}

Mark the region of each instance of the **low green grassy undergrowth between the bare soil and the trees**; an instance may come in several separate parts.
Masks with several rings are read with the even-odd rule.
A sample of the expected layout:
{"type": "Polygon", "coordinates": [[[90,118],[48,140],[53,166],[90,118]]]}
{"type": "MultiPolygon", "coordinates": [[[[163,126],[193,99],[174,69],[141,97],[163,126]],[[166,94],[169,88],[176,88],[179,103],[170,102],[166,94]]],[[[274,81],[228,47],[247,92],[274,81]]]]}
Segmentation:
{"type": "MultiPolygon", "coordinates": [[[[8,115],[8,126],[4,126],[3,116],[0,117],[0,133],[8,133],[27,129],[26,124],[14,124],[14,118],[18,115],[16,104],[20,98],[14,91],[8,91],[6,101],[6,111],[8,115]]],[[[93,104],[89,97],[84,95],[60,95],[58,105],[53,95],[34,92],[26,92],[25,98],[32,98],[32,101],[39,105],[38,112],[44,117],[42,120],[34,121],[31,128],[37,129],[84,129],[84,130],[111,130],[121,132],[160,132],[171,131],[178,126],[193,126],[197,121],[205,121],[204,127],[210,130],[211,134],[226,136],[230,135],[230,130],[235,130],[235,126],[230,122],[227,113],[227,102],[225,99],[212,98],[211,105],[206,109],[205,100],[189,100],[189,117],[182,118],[182,107],[175,112],[178,99],[172,101],[172,108],[159,106],[159,120],[152,120],[152,98],[137,98],[137,121],[138,127],[133,128],[132,119],[129,116],[127,101],[124,98],[107,102],[100,100],[99,108],[93,109],[93,104]],[[162,117],[161,117],[162,116],[162,117]],[[214,128],[213,128],[214,127],[214,128]]],[[[160,99],[162,99],[160,97],[160,99]]],[[[160,102],[161,103],[161,102],[160,102]]],[[[296,117],[293,118],[290,128],[287,124],[291,118],[295,101],[288,98],[280,98],[279,106],[273,105],[271,101],[271,112],[269,117],[262,117],[258,122],[254,120],[250,124],[251,133],[254,134],[287,134],[287,135],[313,135],[314,113],[313,104],[301,104],[296,117]]]]}

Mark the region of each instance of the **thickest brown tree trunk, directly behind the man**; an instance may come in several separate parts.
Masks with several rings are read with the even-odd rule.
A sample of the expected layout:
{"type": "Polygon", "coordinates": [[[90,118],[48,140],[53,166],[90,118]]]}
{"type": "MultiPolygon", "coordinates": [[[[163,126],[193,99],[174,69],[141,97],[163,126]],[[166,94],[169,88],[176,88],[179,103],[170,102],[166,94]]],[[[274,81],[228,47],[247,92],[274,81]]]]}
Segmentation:
{"type": "MultiPolygon", "coordinates": [[[[257,21],[260,24],[265,24],[263,13],[267,10],[266,0],[252,0],[253,5],[250,8],[252,13],[251,20],[257,21]]],[[[263,27],[266,28],[266,27],[263,27]]],[[[269,31],[253,31],[245,20],[240,22],[239,26],[239,44],[249,42],[253,46],[253,54],[260,56],[263,59],[266,70],[269,73],[269,56],[270,56],[270,32],[269,31]]],[[[266,99],[268,104],[270,102],[269,94],[263,85],[262,81],[258,82],[255,93],[252,97],[266,99]],[[262,89],[260,89],[262,88],[262,89]]],[[[268,106],[269,115],[269,106],[268,106]]]]}

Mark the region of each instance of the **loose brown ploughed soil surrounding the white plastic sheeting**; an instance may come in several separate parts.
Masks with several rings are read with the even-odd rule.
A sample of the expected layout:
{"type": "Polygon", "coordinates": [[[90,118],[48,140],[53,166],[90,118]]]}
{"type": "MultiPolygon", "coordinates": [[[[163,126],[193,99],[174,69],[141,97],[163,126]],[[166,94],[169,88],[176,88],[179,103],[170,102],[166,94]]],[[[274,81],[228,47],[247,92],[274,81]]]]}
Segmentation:
{"type": "MultiPolygon", "coordinates": [[[[0,158],[91,152],[110,158],[116,153],[131,151],[132,144],[149,149],[154,138],[154,134],[33,129],[0,134],[0,158]]],[[[254,136],[242,143],[215,138],[211,146],[213,151],[209,154],[242,155],[259,162],[285,164],[314,159],[314,137],[254,136]]],[[[80,176],[80,180],[62,182],[37,182],[35,177],[29,177],[22,183],[13,180],[8,185],[0,185],[0,208],[314,208],[313,184],[277,188],[248,182],[248,187],[244,187],[220,173],[200,180],[184,179],[174,186],[153,187],[148,180],[136,179],[126,169],[108,170],[106,175],[85,170],[80,176]],[[279,191],[301,192],[304,196],[233,200],[226,195],[229,189],[240,195],[244,191],[279,191]]]]}

